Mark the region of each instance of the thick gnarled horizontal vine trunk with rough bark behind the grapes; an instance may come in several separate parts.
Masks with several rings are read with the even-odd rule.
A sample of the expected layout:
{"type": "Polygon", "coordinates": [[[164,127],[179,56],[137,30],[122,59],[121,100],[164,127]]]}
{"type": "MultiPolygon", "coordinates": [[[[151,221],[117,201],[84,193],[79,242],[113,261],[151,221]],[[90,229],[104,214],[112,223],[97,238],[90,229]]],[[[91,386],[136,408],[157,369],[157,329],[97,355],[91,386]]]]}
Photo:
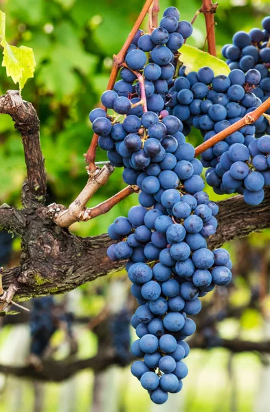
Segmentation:
{"type": "MultiPolygon", "coordinates": [[[[218,230],[208,242],[211,249],[270,227],[270,188],[265,190],[265,200],[257,207],[246,205],[242,196],[234,196],[218,205],[218,230]]],[[[3,271],[4,289],[10,284],[18,288],[14,300],[67,292],[124,267],[123,261],[111,262],[106,258],[106,249],[111,244],[108,235],[74,236],[52,221],[46,207],[23,216],[26,224],[21,267],[3,271]]]]}

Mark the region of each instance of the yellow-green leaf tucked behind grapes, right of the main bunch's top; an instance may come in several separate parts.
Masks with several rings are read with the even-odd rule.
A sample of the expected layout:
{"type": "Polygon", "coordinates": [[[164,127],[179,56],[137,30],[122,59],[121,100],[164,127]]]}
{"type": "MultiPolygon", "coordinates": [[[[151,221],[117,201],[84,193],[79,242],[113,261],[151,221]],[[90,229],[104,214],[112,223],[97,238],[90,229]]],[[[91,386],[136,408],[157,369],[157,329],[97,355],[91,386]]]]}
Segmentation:
{"type": "Polygon", "coordinates": [[[215,76],[219,74],[225,74],[228,76],[230,69],[223,60],[217,57],[211,56],[209,53],[202,52],[196,47],[189,45],[183,45],[179,50],[181,53],[179,56],[179,61],[186,66],[185,74],[190,73],[190,71],[198,71],[201,67],[209,66],[214,70],[215,76]]]}

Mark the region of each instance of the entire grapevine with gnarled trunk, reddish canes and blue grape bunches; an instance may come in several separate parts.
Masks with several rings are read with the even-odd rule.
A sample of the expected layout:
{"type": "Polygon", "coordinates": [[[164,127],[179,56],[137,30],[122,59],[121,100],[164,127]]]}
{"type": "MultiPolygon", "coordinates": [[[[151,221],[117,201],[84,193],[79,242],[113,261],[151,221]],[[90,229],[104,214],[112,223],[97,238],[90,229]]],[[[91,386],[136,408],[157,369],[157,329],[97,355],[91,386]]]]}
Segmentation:
{"type": "MultiPolygon", "coordinates": [[[[156,404],[182,390],[188,374],[189,339],[198,319],[193,317],[201,311],[201,298],[216,286],[224,291],[232,281],[229,253],[213,245],[269,226],[270,18],[263,19],[262,30],[236,33],[234,44],[223,47],[224,62],[215,57],[217,8],[217,3],[203,0],[190,23],[180,19],[177,8],[169,7],[159,21],[158,1],[146,1],[124,46],[113,56],[100,106],[89,115],[93,139],[85,155],[88,180],[69,207],[45,205],[47,183],[33,106],[16,91],[1,96],[0,111],[12,117],[21,133],[27,166],[22,209],[5,204],[0,208],[1,230],[8,230],[1,233],[7,235],[4,242],[10,241],[0,266],[10,256],[9,232],[21,236],[23,250],[20,266],[1,268],[2,310],[14,304],[14,295],[23,299],[62,293],[126,264],[135,298],[131,306],[136,301],[138,305],[137,309],[132,306],[131,319],[137,340],[130,353],[128,306],[109,317],[107,328],[100,326],[102,339],[105,334],[111,336],[108,356],[103,354],[106,344],[100,350],[106,361],[100,363],[97,357],[87,365],[96,362],[96,369],[101,370],[137,358],[131,373],[156,404]],[[148,32],[144,32],[140,27],[147,13],[148,32]],[[205,17],[209,54],[188,45],[200,14],[205,17]],[[211,55],[213,60],[205,57],[205,64],[194,62],[190,67],[186,57],[190,49],[208,58],[211,55]],[[194,128],[201,133],[196,148],[189,143],[194,128]],[[107,159],[95,162],[97,146],[107,159]],[[100,164],[104,166],[99,168],[100,164]],[[122,169],[127,186],[99,205],[87,207],[115,168],[122,169]],[[217,195],[240,194],[243,198],[216,204],[205,191],[205,181],[217,195]],[[134,193],[138,205],[111,223],[110,239],[103,235],[91,244],[91,239],[69,232],[74,222],[105,214],[134,193]],[[243,207],[244,201],[255,208],[243,207]],[[242,215],[234,216],[238,207],[249,214],[239,230],[242,215]],[[257,219],[251,215],[256,212],[257,219]],[[229,230],[227,218],[233,220],[229,230]],[[105,250],[109,259],[104,258],[105,250]]],[[[31,354],[40,360],[46,357],[60,323],[65,322],[72,339],[72,319],[58,316],[55,308],[52,297],[33,301],[31,354]]],[[[219,336],[207,333],[198,346],[221,345],[219,336]]]]}

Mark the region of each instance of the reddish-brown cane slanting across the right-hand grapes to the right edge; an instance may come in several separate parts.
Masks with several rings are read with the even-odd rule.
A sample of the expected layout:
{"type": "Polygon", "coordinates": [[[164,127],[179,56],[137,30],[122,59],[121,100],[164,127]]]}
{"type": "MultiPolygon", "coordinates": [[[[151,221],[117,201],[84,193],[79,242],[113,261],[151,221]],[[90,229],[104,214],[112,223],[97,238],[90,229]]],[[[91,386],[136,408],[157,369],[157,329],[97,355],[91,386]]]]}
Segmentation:
{"type": "Polygon", "coordinates": [[[217,133],[217,135],[211,137],[207,141],[204,141],[202,144],[197,146],[195,148],[195,157],[201,155],[201,153],[205,152],[205,150],[212,148],[218,141],[224,140],[226,137],[229,135],[232,135],[232,133],[237,132],[237,130],[240,130],[244,126],[247,126],[247,124],[253,124],[258,120],[258,118],[267,111],[267,109],[270,108],[270,98],[265,100],[260,106],[256,108],[256,110],[248,113],[245,115],[242,119],[238,120],[238,122],[232,124],[231,126],[225,128],[222,130],[220,133],[217,133]]]}

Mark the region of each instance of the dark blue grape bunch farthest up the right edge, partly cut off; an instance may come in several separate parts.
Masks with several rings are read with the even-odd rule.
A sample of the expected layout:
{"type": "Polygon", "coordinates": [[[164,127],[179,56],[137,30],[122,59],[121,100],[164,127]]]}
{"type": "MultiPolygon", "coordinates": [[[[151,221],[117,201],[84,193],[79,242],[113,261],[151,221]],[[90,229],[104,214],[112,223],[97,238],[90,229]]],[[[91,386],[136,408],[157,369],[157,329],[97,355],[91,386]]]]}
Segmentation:
{"type": "MultiPolygon", "coordinates": [[[[236,32],[232,38],[233,44],[224,45],[223,57],[230,69],[240,69],[244,73],[249,69],[260,71],[260,83],[253,93],[264,102],[270,96],[270,16],[262,20],[262,30],[254,27],[247,32],[236,32]]],[[[266,112],[267,113],[267,112],[266,112]]],[[[270,114],[270,111],[268,111],[270,114]]],[[[270,133],[267,119],[256,125],[256,134],[270,133]]]]}

